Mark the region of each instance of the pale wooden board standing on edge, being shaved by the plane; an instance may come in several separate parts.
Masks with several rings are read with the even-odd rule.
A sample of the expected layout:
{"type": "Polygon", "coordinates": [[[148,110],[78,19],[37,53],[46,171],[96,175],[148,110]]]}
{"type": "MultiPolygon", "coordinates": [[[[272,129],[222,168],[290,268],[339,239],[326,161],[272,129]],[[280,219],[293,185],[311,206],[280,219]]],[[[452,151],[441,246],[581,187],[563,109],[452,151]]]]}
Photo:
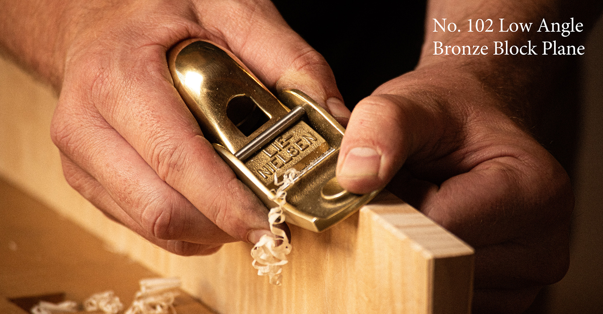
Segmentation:
{"type": "Polygon", "coordinates": [[[473,250],[408,204],[385,193],[324,233],[291,227],[283,286],[251,268],[251,245],[230,243],[206,257],[180,257],[105,218],[62,177],[49,139],[56,100],[0,63],[0,175],[219,313],[468,313],[473,250]]]}

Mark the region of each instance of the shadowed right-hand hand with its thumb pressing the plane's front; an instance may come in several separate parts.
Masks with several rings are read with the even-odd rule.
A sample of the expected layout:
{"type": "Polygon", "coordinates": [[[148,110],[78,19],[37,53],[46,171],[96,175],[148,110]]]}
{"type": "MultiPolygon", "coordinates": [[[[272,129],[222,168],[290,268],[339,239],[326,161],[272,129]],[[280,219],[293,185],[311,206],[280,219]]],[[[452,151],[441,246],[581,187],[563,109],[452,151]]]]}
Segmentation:
{"type": "Polygon", "coordinates": [[[449,65],[356,105],[338,180],[365,193],[393,179],[391,192],[476,249],[473,313],[519,313],[567,271],[569,178],[487,83],[449,65]]]}

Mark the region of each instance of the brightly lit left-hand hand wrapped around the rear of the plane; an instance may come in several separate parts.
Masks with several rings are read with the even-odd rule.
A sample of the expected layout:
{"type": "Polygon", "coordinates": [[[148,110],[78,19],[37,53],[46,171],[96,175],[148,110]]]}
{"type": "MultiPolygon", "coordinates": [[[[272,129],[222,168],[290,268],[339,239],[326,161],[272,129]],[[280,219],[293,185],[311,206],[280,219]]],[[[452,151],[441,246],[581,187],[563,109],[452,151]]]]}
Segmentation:
{"type": "MultiPolygon", "coordinates": [[[[267,209],[204,139],[172,86],[166,51],[198,37],[273,89],[308,93],[347,120],[333,74],[270,1],[86,2],[71,11],[51,136],[69,184],[176,254],[270,233],[267,209]]],[[[61,45],[57,45],[61,46],[61,45]]],[[[60,52],[60,51],[59,51],[60,52]]],[[[52,71],[51,71],[52,72],[52,71]]]]}

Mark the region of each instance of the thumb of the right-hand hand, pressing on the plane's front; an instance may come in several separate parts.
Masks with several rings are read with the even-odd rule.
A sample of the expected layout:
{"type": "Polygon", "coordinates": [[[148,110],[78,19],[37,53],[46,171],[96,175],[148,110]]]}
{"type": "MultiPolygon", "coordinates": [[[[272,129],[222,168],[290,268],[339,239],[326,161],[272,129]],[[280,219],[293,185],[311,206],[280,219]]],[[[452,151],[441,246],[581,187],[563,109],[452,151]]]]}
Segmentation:
{"type": "Polygon", "coordinates": [[[385,187],[406,158],[435,138],[434,115],[396,95],[372,95],[352,112],[337,163],[339,184],[353,193],[385,187]]]}

